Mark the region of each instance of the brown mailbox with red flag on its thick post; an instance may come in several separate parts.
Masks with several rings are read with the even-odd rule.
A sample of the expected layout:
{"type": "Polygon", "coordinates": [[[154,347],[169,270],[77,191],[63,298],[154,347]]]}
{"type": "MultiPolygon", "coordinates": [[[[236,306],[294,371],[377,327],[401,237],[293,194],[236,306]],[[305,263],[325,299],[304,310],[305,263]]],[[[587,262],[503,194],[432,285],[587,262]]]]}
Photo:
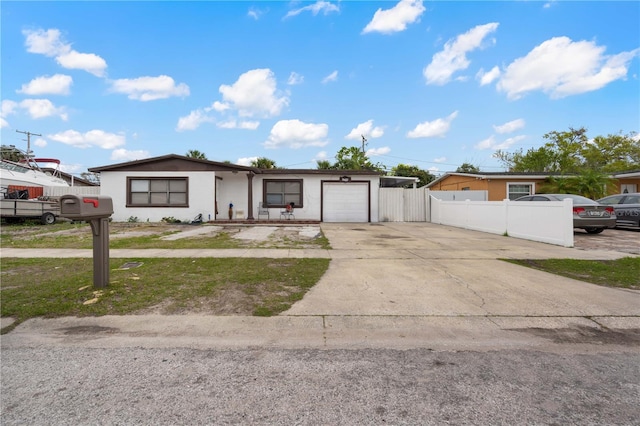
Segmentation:
{"type": "Polygon", "coordinates": [[[91,224],[93,286],[97,288],[104,288],[109,284],[109,216],[112,214],[111,197],[71,194],[60,197],[60,216],[91,224]]]}

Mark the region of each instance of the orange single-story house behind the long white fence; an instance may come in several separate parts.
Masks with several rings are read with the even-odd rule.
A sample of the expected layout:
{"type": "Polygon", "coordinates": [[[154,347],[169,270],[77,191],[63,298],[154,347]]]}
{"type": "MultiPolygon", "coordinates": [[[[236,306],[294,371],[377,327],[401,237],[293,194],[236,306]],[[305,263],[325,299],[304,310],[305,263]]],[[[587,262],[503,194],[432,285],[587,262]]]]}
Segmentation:
{"type": "MultiPolygon", "coordinates": [[[[488,201],[515,200],[524,195],[539,192],[539,186],[551,174],[548,173],[445,173],[427,184],[433,191],[487,191],[488,201]]],[[[638,192],[640,170],[611,175],[616,180],[617,191],[638,192]]]]}

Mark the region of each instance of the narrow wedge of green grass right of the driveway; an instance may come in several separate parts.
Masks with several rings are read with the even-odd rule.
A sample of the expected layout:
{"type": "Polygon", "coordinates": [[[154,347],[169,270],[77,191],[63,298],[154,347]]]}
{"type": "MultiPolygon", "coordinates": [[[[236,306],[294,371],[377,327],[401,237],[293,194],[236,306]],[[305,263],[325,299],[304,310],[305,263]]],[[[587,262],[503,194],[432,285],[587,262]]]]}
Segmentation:
{"type": "Polygon", "coordinates": [[[607,287],[640,289],[640,257],[617,260],[502,260],[607,287]]]}

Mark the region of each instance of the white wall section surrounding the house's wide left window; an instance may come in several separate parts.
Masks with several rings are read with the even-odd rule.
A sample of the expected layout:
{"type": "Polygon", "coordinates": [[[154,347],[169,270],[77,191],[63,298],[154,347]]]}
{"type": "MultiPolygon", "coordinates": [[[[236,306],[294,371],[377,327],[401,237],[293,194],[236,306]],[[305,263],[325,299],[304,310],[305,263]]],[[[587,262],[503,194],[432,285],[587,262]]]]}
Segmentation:
{"type": "Polygon", "coordinates": [[[206,221],[209,215],[214,217],[214,182],[214,172],[106,172],[100,176],[100,195],[113,200],[114,222],[126,222],[131,217],[140,222],[160,222],[163,217],[190,222],[198,214],[206,221]],[[189,207],[127,207],[127,177],[188,177],[189,207]]]}

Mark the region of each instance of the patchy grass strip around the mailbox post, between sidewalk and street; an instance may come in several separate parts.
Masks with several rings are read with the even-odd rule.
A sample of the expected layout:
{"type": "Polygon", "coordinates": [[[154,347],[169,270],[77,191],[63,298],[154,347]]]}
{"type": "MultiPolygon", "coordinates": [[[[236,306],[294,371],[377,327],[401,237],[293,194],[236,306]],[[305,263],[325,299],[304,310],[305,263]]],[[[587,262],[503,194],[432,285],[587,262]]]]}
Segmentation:
{"type": "Polygon", "coordinates": [[[271,316],[315,285],[328,259],[111,259],[110,282],[93,287],[93,259],[2,259],[2,317],[12,330],[34,317],[203,312],[271,316]],[[127,262],[141,262],[120,269],[127,262]]]}

